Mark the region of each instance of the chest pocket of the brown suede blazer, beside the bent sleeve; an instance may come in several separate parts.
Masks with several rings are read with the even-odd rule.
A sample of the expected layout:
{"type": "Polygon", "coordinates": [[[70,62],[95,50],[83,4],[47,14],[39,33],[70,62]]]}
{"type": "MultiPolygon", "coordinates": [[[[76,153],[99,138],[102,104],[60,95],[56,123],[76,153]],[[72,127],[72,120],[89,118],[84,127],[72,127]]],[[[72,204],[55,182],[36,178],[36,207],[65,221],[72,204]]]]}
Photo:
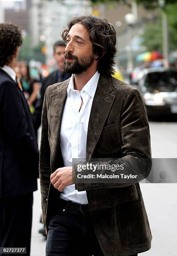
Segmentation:
{"type": "Polygon", "coordinates": [[[111,154],[121,148],[119,123],[104,126],[97,143],[97,151],[100,154],[111,154]]]}

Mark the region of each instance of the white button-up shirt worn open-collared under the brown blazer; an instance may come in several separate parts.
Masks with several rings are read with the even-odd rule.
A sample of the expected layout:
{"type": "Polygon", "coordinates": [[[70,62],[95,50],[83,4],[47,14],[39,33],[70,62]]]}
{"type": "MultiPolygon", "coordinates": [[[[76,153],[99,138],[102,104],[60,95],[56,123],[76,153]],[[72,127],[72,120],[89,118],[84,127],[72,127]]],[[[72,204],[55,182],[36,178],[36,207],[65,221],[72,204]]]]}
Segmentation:
{"type": "MultiPolygon", "coordinates": [[[[88,120],[100,73],[97,71],[82,90],[74,90],[74,74],[67,88],[67,99],[63,110],[60,131],[60,146],[64,166],[72,166],[72,159],[86,159],[88,120]],[[83,105],[81,107],[81,97],[83,105]],[[81,107],[81,110],[79,111],[81,107]]],[[[78,192],[75,184],[63,189],[60,197],[80,204],[87,204],[86,191],[78,192]]]]}

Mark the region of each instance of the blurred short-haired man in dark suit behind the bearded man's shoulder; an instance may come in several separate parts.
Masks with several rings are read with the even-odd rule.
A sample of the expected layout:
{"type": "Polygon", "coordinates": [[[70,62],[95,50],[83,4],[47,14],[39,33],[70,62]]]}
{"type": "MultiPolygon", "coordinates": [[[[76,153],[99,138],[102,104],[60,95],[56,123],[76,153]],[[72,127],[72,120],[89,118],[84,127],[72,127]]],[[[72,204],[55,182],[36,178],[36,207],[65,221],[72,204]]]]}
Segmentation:
{"type": "Polygon", "coordinates": [[[57,69],[53,71],[48,77],[43,79],[42,86],[40,89],[40,99],[37,102],[35,112],[33,113],[33,118],[35,121],[35,129],[38,130],[41,124],[41,116],[43,110],[43,100],[46,88],[58,82],[63,82],[71,77],[71,74],[67,74],[64,71],[64,54],[65,54],[66,44],[64,41],[59,40],[53,45],[53,57],[56,61],[57,69]]]}

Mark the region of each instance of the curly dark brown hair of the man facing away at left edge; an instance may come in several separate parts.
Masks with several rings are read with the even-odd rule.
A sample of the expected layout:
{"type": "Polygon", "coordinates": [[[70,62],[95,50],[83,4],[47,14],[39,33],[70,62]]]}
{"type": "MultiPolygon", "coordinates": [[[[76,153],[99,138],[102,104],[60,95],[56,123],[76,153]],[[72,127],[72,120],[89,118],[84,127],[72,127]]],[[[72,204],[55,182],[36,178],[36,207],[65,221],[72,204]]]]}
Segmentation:
{"type": "Polygon", "coordinates": [[[0,23],[0,67],[8,65],[22,44],[22,31],[12,23],[0,23]]]}

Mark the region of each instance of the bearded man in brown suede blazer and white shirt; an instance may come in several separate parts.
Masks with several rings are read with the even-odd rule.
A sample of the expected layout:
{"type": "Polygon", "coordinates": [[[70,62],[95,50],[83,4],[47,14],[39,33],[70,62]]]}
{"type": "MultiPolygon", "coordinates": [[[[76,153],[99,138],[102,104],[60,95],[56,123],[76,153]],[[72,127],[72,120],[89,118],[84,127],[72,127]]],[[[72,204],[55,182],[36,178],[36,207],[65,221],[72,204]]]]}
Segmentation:
{"type": "Polygon", "coordinates": [[[149,250],[152,240],[139,183],[81,183],[72,159],[150,159],[142,97],[111,77],[116,32],[106,20],[72,18],[62,38],[64,69],[73,75],[47,88],[42,113],[46,256],[135,256],[149,250]]]}

